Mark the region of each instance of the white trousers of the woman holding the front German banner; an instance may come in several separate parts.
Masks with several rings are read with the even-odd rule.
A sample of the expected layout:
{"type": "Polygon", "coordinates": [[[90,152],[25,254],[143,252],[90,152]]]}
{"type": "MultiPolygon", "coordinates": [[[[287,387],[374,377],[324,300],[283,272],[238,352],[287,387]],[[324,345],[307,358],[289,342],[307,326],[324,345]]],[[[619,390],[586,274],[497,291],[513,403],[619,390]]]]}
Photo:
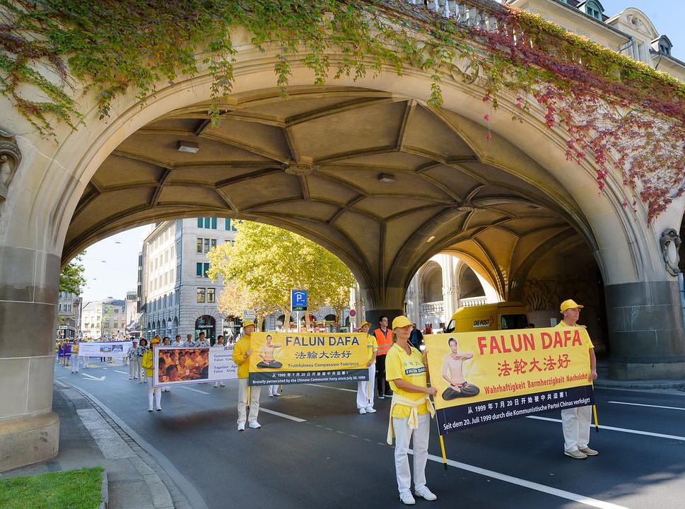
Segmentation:
{"type": "Polygon", "coordinates": [[[409,440],[414,436],[414,491],[426,486],[426,461],[428,460],[428,435],[431,432],[431,414],[418,416],[418,428],[409,428],[409,419],[392,418],[395,432],[395,474],[397,489],[402,494],[411,488],[409,472],[409,440]]]}

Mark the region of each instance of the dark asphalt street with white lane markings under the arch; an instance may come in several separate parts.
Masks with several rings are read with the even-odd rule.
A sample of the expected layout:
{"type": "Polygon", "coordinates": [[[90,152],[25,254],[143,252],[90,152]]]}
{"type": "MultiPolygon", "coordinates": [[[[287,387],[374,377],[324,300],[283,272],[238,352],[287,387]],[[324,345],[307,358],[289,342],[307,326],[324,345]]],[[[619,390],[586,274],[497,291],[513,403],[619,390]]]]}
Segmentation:
{"type": "MultiPolygon", "coordinates": [[[[127,373],[100,363],[78,374],[57,366],[55,379],[93,394],[210,509],[404,507],[385,444],[390,399],[359,415],[349,383],[287,385],[281,397],[263,388],[262,428],[238,432],[237,382],[173,387],[163,411],[148,412],[147,386],[127,373]]],[[[426,477],[438,501],[417,499],[417,507],[684,508],[685,392],[595,397],[600,432],[592,431],[590,446],[599,456],[587,460],[563,455],[558,411],[447,435],[447,471],[433,428],[426,477]]]]}

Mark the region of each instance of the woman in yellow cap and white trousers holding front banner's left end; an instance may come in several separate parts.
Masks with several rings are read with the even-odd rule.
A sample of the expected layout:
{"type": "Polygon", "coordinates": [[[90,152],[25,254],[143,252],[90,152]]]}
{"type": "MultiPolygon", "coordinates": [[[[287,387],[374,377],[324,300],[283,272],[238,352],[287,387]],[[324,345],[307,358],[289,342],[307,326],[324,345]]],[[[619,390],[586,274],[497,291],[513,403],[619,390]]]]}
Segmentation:
{"type": "Polygon", "coordinates": [[[434,501],[436,497],[426,486],[426,460],[428,460],[428,435],[431,416],[435,414],[430,396],[438,392],[428,387],[428,351],[420,351],[409,344],[411,322],[405,316],[392,320],[394,344],[385,361],[386,377],[392,387],[390,423],[387,443],[395,438],[395,474],[399,499],[406,505],[414,505],[411,496],[411,472],[409,471],[409,441],[414,437],[414,495],[434,501]]]}

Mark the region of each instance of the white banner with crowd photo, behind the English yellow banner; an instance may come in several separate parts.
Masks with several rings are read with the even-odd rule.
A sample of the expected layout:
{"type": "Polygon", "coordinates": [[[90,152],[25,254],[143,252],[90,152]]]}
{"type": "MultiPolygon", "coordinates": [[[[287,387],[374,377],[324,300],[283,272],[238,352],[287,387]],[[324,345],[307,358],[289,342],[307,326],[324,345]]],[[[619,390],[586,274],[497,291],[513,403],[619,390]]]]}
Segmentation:
{"type": "Polygon", "coordinates": [[[233,362],[233,345],[223,348],[156,346],[153,360],[155,387],[238,378],[238,366],[233,362]]]}

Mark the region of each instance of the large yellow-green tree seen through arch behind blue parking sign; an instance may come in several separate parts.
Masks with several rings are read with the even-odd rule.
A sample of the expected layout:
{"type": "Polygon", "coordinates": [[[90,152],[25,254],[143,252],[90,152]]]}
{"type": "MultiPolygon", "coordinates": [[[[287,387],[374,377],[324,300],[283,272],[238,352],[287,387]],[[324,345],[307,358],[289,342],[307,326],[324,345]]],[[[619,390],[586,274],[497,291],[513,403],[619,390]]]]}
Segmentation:
{"type": "MultiPolygon", "coordinates": [[[[227,310],[236,303],[249,306],[246,309],[253,309],[260,322],[271,312],[282,310],[287,324],[290,291],[297,288],[308,290],[310,309],[322,305],[345,307],[341,295],[349,299],[349,288],[355,280],[350,269],[332,253],[275,226],[242,221],[236,229],[233,246],[226,242],[207,255],[209,277],[223,277],[227,293],[220,299],[226,300],[227,310]],[[245,298],[241,297],[243,293],[245,298]]],[[[237,315],[237,310],[233,308],[232,314],[237,315]]]]}

